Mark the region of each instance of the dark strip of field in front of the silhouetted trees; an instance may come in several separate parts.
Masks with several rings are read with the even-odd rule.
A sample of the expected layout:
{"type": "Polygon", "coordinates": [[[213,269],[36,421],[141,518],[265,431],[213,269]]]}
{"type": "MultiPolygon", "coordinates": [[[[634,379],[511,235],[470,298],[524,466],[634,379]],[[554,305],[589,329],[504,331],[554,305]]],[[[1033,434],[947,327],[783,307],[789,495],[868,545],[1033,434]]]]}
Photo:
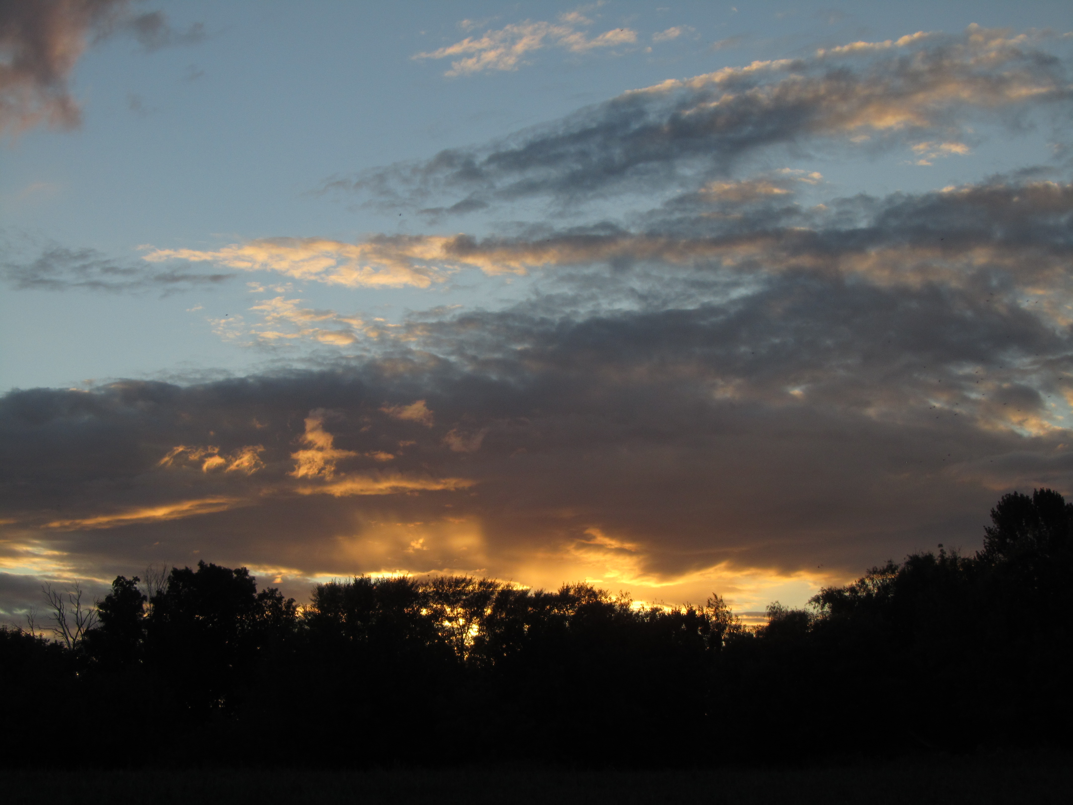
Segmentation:
{"type": "Polygon", "coordinates": [[[0,771],[8,805],[152,803],[1055,803],[1073,792],[1067,753],[928,758],[811,769],[0,771]]]}

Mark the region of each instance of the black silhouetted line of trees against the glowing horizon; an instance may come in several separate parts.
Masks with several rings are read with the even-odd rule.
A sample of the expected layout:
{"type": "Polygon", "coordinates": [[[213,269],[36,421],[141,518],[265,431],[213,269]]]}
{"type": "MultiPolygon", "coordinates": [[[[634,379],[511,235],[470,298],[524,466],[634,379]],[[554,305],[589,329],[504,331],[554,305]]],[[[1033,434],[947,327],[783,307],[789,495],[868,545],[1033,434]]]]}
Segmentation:
{"type": "MultiPolygon", "coordinates": [[[[60,640],[0,629],[9,764],[806,762],[1068,745],[1073,503],[1005,495],[982,550],[888,561],[745,627],[468,576],[245,568],[113,582],[60,640]]],[[[57,609],[57,605],[59,609],[57,609]]],[[[64,618],[67,621],[64,623],[64,618]]]]}

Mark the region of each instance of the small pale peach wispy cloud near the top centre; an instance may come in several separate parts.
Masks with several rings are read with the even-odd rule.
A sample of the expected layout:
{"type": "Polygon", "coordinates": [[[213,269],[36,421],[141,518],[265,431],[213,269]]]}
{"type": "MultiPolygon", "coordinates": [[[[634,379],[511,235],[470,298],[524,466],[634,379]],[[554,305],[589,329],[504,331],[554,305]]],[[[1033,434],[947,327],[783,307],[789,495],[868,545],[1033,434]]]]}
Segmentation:
{"type": "Polygon", "coordinates": [[[562,47],[571,53],[587,53],[596,48],[628,45],[637,41],[637,33],[630,28],[615,28],[589,38],[577,26],[592,20],[579,12],[562,14],[559,24],[525,20],[508,25],[500,30],[488,30],[483,36],[467,36],[461,42],[429,53],[415,54],[414,59],[453,59],[451,70],[444,75],[456,77],[485,70],[512,71],[526,63],[526,54],[545,47],[562,47]]]}

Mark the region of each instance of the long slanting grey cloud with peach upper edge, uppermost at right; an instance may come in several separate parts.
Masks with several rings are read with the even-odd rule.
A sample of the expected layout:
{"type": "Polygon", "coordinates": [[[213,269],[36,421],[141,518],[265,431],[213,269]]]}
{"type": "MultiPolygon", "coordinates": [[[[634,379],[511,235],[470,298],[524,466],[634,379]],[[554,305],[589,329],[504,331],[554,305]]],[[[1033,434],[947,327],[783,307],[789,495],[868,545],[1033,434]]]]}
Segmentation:
{"type": "Polygon", "coordinates": [[[378,203],[440,214],[548,196],[644,194],[725,177],[764,149],[837,143],[862,153],[962,143],[973,119],[1071,98],[1065,63],[1040,36],[971,26],[858,42],[632,90],[503,141],[336,179],[378,203]],[[937,140],[941,136],[941,140],[937,140]],[[429,207],[429,201],[443,204],[429,207]]]}

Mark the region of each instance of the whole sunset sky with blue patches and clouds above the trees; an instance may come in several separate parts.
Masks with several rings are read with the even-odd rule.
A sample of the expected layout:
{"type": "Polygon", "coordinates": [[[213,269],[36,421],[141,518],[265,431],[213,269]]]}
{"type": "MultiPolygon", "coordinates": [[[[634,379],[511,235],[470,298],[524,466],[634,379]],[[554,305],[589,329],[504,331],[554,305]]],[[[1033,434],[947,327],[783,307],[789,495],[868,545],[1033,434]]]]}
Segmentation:
{"type": "Polygon", "coordinates": [[[0,2],[0,620],[755,617],[1073,493],[1068,2],[0,2]]]}

